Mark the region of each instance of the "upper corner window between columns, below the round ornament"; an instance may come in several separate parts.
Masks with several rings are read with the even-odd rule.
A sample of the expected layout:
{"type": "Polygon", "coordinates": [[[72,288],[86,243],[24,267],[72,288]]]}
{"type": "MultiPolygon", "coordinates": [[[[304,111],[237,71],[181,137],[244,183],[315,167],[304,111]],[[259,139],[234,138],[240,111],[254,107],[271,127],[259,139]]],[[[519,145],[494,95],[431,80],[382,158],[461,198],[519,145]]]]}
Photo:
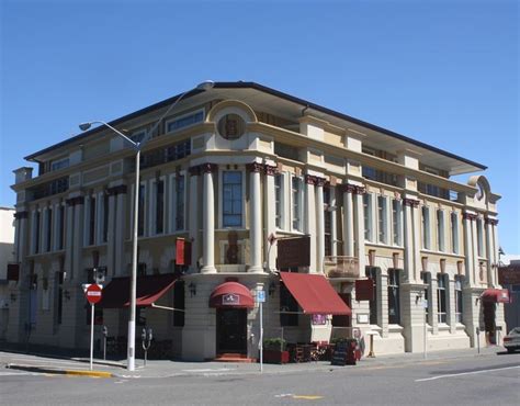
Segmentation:
{"type": "Polygon", "coordinates": [[[242,226],[242,172],[223,172],[223,226],[242,226]]]}

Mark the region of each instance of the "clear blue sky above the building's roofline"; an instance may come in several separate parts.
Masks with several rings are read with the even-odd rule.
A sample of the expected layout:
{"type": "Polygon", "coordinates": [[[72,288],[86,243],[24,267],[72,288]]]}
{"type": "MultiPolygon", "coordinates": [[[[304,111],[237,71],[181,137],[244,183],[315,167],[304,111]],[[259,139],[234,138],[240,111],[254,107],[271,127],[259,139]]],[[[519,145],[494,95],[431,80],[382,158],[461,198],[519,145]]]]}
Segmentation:
{"type": "Polygon", "coordinates": [[[23,157],[78,123],[246,80],[488,166],[500,244],[520,253],[517,1],[0,4],[0,205],[23,157]]]}

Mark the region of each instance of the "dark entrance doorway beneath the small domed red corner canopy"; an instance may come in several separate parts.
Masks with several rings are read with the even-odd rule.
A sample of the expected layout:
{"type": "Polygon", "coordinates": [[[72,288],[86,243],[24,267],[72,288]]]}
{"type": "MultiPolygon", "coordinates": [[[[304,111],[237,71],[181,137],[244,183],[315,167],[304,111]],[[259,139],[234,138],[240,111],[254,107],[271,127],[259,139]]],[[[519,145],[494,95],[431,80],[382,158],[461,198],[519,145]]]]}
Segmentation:
{"type": "Polygon", "coordinates": [[[247,354],[247,309],[217,308],[217,353],[247,354]]]}

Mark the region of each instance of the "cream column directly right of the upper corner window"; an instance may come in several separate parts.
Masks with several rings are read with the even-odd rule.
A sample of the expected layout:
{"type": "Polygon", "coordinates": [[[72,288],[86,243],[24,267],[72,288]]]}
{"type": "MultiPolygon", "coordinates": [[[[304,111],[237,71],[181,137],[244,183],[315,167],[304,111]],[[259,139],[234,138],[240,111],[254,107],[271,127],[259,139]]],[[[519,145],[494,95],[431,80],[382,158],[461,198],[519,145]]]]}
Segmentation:
{"type": "Polygon", "coordinates": [[[251,245],[251,263],[248,272],[262,272],[262,208],[260,193],[260,171],[263,166],[258,162],[246,166],[249,171],[249,240],[251,245]]]}

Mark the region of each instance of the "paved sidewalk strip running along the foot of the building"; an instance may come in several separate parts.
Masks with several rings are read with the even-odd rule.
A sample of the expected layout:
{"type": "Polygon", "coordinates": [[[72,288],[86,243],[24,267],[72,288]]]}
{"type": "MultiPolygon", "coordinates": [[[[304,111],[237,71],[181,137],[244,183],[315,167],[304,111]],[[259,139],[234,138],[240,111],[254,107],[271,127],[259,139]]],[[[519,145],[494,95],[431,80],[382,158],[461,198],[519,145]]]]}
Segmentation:
{"type": "MultiPolygon", "coordinates": [[[[332,366],[329,361],[290,363],[290,364],[263,364],[263,373],[305,373],[313,371],[332,371],[341,369],[365,369],[365,368],[398,368],[410,363],[441,362],[457,358],[493,357],[504,352],[501,347],[486,347],[477,353],[476,349],[436,351],[422,353],[400,353],[381,356],[376,358],[362,358],[355,366],[332,366]]],[[[219,375],[244,375],[260,374],[259,363],[228,363],[228,362],[183,362],[171,360],[150,360],[144,366],[144,360],[136,359],[136,370],[126,370],[126,360],[103,361],[94,359],[93,371],[89,370],[90,359],[86,357],[67,357],[64,354],[22,353],[15,350],[0,351],[0,368],[13,370],[39,372],[47,374],[84,375],[97,377],[142,377],[160,379],[173,376],[219,376],[219,375]]]]}

